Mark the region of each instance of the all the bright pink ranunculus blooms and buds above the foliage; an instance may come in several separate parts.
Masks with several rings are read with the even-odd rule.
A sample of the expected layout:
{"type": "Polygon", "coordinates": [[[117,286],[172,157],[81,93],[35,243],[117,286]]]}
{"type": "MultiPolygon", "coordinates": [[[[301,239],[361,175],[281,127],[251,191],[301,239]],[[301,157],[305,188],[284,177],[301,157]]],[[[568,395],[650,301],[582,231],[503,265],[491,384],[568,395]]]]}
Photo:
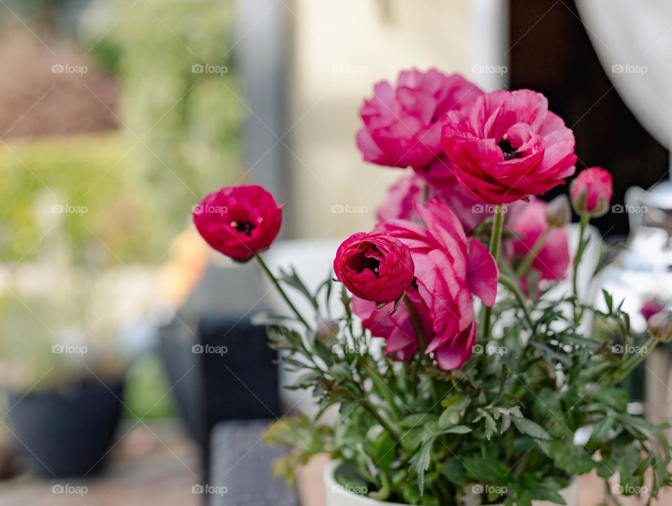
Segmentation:
{"type": "MultiPolygon", "coordinates": [[[[386,353],[409,360],[421,351],[441,369],[461,367],[477,338],[474,296],[492,306],[497,295],[496,258],[475,235],[494,206],[505,214],[507,261],[528,265],[537,280],[566,276],[566,198],[563,219],[535,196],[574,174],[573,132],[540,93],[483,93],[435,69],[377,83],[360,116],[364,159],[411,171],[391,187],[373,231],[339,247],[335,275],[386,353]]],[[[570,195],[578,213],[604,214],[611,176],[584,170],[570,195]]],[[[221,189],[193,214],[205,240],[237,261],[269,247],[281,222],[281,207],[258,186],[221,189]]],[[[529,288],[526,273],[519,282],[529,288]]]]}

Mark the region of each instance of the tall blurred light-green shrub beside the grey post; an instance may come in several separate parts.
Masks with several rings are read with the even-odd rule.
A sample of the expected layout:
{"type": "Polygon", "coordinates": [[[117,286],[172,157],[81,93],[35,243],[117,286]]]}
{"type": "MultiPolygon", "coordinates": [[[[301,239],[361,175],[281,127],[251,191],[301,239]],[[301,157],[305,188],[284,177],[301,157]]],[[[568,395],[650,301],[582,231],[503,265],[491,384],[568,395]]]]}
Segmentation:
{"type": "Polygon", "coordinates": [[[120,80],[138,189],[174,231],[240,173],[233,25],[232,2],[221,0],[95,0],[80,18],[83,46],[120,80]]]}

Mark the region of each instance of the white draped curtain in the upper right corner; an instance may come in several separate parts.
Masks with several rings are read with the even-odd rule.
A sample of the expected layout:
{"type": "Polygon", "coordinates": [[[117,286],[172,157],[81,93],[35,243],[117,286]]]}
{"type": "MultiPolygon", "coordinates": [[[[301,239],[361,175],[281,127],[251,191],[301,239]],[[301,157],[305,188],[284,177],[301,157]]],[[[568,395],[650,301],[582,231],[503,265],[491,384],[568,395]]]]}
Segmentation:
{"type": "Polygon", "coordinates": [[[644,128],[670,149],[672,0],[577,0],[577,6],[617,92],[644,128]]]}

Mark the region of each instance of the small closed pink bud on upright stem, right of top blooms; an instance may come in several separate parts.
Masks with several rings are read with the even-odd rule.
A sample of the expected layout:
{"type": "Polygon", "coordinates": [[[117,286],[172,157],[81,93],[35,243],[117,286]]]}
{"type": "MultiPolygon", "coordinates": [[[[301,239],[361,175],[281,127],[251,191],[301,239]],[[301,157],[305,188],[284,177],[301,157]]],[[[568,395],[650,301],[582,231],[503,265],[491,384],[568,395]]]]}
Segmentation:
{"type": "Polygon", "coordinates": [[[569,193],[577,213],[587,212],[591,217],[599,217],[609,210],[614,183],[608,170],[590,167],[579,172],[570,184],[569,193]]]}

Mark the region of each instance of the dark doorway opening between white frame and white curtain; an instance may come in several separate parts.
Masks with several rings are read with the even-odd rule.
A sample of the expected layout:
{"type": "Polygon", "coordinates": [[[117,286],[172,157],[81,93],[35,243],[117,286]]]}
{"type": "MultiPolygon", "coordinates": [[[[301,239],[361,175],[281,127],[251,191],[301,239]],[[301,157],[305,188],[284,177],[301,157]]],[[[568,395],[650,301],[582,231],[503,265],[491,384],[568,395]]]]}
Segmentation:
{"type": "MultiPolygon", "coordinates": [[[[614,175],[614,203],[623,203],[629,186],[667,177],[668,151],[613,88],[573,0],[510,0],[510,41],[510,88],[548,97],[549,109],[574,130],[577,170],[602,165],[614,175]]],[[[626,214],[607,214],[596,225],[608,235],[628,231],[626,214]]]]}

